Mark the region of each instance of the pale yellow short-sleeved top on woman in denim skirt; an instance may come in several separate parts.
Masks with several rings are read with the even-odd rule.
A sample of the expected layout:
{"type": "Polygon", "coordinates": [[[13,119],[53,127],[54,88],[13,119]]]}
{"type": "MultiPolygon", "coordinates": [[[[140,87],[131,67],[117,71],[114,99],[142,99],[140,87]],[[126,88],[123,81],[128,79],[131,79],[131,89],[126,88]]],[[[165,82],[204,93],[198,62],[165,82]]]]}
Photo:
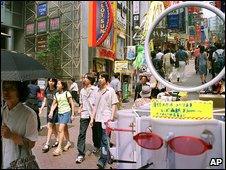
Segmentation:
{"type": "Polygon", "coordinates": [[[71,111],[71,107],[68,102],[68,98],[70,97],[72,96],[69,91],[64,91],[63,93],[57,92],[56,95],[54,95],[54,100],[57,101],[58,114],[64,114],[71,111]]]}

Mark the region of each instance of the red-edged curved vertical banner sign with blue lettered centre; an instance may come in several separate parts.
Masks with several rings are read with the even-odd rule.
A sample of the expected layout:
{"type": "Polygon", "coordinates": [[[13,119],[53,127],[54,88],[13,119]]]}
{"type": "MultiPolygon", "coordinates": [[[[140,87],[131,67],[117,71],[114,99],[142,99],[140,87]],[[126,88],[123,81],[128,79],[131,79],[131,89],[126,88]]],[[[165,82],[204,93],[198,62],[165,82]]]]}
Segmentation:
{"type": "Polygon", "coordinates": [[[110,1],[89,2],[89,47],[100,46],[111,31],[113,14],[110,1]]]}

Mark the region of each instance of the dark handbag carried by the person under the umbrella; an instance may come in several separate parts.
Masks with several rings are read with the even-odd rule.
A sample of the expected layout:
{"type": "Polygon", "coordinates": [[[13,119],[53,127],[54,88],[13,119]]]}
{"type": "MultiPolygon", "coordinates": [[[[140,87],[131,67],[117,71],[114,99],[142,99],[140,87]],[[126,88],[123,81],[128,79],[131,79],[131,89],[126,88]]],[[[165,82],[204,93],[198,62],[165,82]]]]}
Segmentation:
{"type": "Polygon", "coordinates": [[[22,146],[19,146],[19,158],[10,163],[10,167],[8,169],[40,169],[38,163],[35,160],[35,156],[31,154],[31,151],[28,149],[28,141],[23,138],[23,143],[25,146],[25,150],[27,152],[27,157],[21,158],[21,150],[22,146]]]}

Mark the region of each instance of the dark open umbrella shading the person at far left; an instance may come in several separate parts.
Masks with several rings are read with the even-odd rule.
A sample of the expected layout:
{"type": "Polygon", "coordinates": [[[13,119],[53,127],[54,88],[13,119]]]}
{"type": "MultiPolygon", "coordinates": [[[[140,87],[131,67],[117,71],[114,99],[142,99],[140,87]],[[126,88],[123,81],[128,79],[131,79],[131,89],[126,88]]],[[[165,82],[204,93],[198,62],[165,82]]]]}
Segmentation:
{"type": "Polygon", "coordinates": [[[26,81],[54,75],[26,54],[1,49],[1,80],[26,81]]]}

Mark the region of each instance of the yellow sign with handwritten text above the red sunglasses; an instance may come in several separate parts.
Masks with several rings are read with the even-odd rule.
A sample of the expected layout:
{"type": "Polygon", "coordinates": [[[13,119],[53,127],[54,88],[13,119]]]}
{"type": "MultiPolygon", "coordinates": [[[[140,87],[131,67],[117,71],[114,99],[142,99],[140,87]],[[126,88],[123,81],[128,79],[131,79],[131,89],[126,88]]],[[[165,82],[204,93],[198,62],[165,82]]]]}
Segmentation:
{"type": "Polygon", "coordinates": [[[151,100],[152,118],[180,120],[213,119],[213,101],[173,101],[151,100]]]}

